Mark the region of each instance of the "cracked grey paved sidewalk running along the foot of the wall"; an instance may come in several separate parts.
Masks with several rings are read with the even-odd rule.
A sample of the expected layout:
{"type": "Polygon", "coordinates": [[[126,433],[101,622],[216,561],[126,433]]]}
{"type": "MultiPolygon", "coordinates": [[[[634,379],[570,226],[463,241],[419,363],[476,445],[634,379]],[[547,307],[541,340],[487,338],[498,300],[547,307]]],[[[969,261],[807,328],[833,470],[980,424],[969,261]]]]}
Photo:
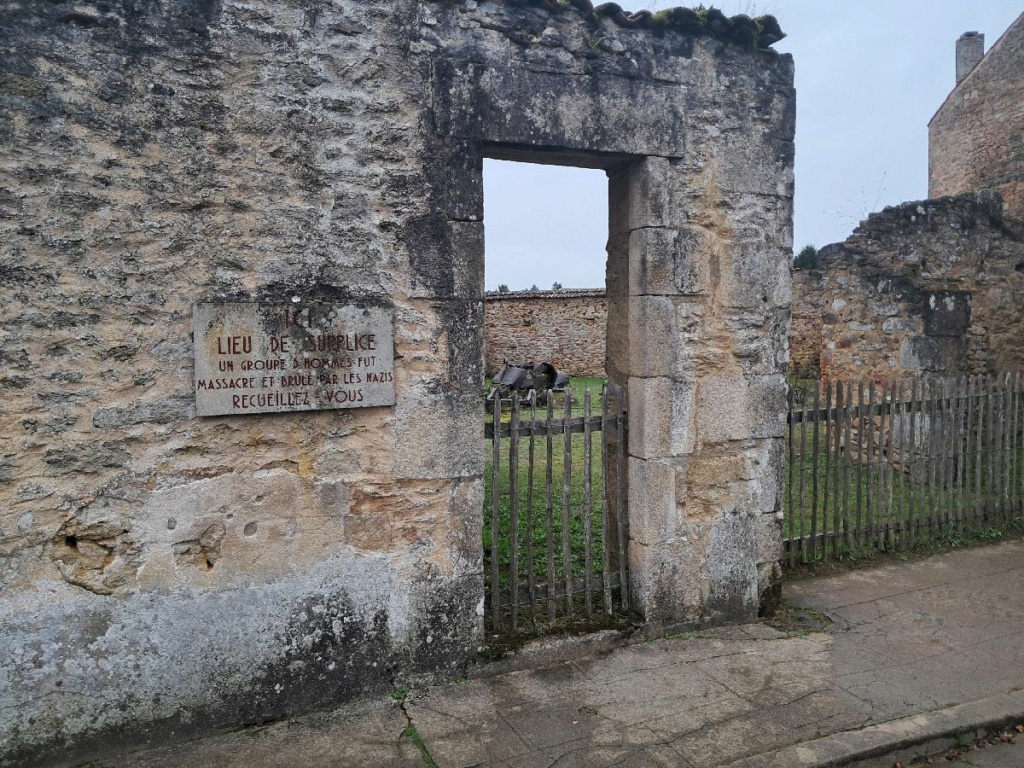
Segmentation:
{"type": "Polygon", "coordinates": [[[833,624],[633,643],[89,765],[883,765],[894,750],[1024,718],[1024,543],[786,593],[833,624]]]}

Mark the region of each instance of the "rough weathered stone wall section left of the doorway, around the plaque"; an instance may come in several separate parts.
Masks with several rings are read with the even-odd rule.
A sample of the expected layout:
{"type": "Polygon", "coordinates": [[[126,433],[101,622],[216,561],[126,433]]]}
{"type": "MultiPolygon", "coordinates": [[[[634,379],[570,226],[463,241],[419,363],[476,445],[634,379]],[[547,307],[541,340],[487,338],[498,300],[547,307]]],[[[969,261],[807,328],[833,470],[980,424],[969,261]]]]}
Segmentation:
{"type": "Polygon", "coordinates": [[[3,14],[4,764],[462,669],[483,286],[436,254],[481,224],[428,177],[420,4],[3,14]],[[193,305],[295,297],[392,313],[396,404],[197,418],[193,305]]]}

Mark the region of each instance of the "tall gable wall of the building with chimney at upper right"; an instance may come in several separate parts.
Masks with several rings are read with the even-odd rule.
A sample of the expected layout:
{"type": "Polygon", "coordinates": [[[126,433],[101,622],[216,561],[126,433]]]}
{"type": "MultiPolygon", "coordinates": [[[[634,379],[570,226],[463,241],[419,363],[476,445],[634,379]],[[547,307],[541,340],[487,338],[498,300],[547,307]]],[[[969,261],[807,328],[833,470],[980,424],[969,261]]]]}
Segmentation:
{"type": "Polygon", "coordinates": [[[1011,25],[928,125],[928,195],[997,189],[1024,219],[1024,14],[1011,25]]]}

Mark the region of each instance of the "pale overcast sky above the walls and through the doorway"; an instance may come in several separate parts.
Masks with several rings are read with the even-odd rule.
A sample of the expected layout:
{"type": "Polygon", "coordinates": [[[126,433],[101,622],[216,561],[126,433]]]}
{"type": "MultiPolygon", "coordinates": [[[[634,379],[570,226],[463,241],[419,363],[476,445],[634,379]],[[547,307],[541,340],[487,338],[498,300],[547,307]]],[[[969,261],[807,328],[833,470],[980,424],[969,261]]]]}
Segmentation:
{"type": "MultiPolygon", "coordinates": [[[[676,5],[620,0],[629,10],[676,5]]],[[[794,247],[845,240],[887,205],[928,197],[928,121],[954,84],[956,38],[985,50],[1021,0],[722,0],[728,14],[774,13],[773,47],[797,69],[794,247]]],[[[604,285],[607,182],[601,171],[486,161],[486,287],[604,285]]]]}

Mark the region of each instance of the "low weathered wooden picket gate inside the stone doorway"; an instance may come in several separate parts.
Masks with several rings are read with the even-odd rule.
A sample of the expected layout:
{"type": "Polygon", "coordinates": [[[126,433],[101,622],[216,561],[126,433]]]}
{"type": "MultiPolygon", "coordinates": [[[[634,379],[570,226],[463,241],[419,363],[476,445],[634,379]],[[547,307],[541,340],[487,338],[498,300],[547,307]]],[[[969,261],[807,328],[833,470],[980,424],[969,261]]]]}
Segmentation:
{"type": "Polygon", "coordinates": [[[624,406],[610,383],[597,396],[567,388],[494,398],[484,430],[488,632],[629,609],[624,406]]]}

